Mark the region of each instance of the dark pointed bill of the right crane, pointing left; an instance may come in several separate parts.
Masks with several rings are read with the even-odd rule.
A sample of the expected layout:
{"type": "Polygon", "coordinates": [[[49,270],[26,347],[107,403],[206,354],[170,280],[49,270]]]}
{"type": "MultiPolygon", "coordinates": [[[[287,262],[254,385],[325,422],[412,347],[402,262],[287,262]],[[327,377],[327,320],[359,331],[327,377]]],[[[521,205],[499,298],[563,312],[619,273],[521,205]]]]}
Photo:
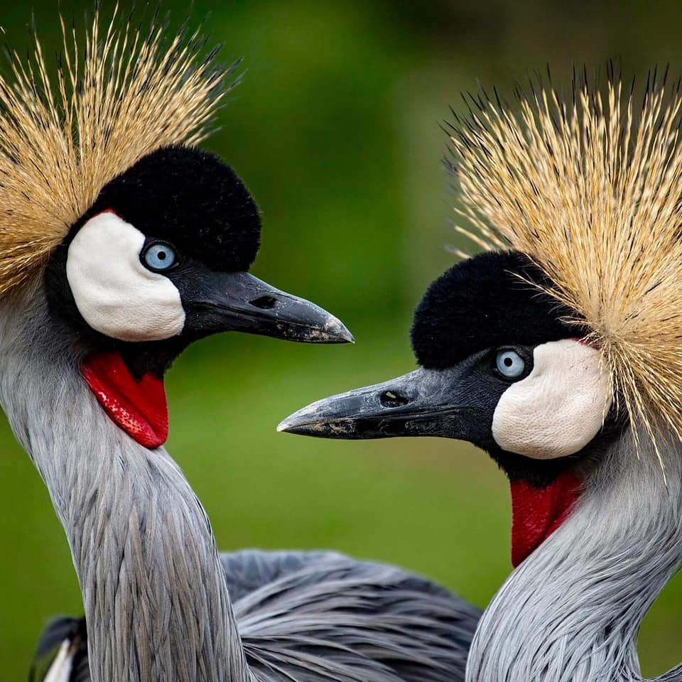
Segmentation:
{"type": "Polygon", "coordinates": [[[288,416],[277,431],[318,438],[444,436],[470,440],[482,411],[462,369],[418,369],[383,384],[319,400],[288,416]]]}

